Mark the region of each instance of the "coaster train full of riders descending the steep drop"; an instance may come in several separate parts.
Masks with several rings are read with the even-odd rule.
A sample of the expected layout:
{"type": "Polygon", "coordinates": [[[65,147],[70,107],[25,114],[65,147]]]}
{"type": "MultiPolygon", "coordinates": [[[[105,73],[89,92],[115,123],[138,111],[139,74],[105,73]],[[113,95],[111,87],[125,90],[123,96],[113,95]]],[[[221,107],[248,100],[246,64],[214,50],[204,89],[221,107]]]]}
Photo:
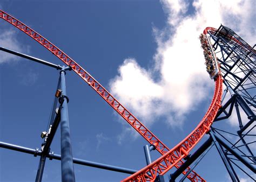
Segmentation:
{"type": "Polygon", "coordinates": [[[204,50],[206,71],[210,74],[210,78],[214,79],[220,73],[218,59],[213,51],[210,39],[203,33],[200,34],[201,47],[204,50]]]}

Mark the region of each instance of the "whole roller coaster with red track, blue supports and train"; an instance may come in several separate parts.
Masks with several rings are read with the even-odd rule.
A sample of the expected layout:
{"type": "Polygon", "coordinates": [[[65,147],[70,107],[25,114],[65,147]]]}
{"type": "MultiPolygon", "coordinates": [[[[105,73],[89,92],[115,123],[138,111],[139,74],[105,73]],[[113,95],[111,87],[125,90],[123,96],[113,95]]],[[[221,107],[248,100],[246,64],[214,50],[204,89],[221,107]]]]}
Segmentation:
{"type": "MultiPolygon", "coordinates": [[[[122,181],[164,181],[164,174],[173,167],[176,171],[169,176],[170,181],[175,181],[181,173],[185,178],[191,181],[206,181],[201,177],[194,167],[215,145],[227,172],[233,181],[239,181],[240,172],[255,180],[256,157],[253,153],[253,144],[255,143],[255,50],[248,45],[235,32],[228,27],[221,25],[218,29],[206,27],[199,36],[201,47],[205,56],[205,65],[211,79],[215,82],[215,89],[212,102],[196,128],[178,143],[174,148],[168,148],[158,139],[146,126],[140,122],[129,110],[127,110],[111,93],[109,93],[100,83],[93,78],[85,69],[71,59],[67,54],[53,45],[41,34],[32,30],[29,26],[23,24],[18,19],[8,13],[0,10],[0,17],[6,22],[14,25],[37,43],[41,44],[46,50],[50,51],[57,58],[62,60],[67,67],[60,67],[49,62],[30,57],[6,48],[0,47],[0,51],[21,56],[26,59],[40,62],[42,64],[55,67],[60,70],[60,78],[54,108],[52,110],[51,122],[48,131],[42,132],[44,143],[41,150],[23,148],[22,146],[0,142],[2,148],[31,153],[41,156],[37,171],[36,181],[41,181],[45,158],[62,160],[62,180],[75,181],[73,163],[97,166],[98,164],[89,164],[83,160],[72,158],[69,123],[66,117],[66,110],[69,98],[65,95],[65,71],[68,69],[74,71],[83,79],[95,92],[105,100],[123,119],[131,125],[147,142],[150,144],[150,150],[157,150],[161,157],[154,162],[151,161],[142,170],[132,171],[118,169],[118,167],[98,165],[97,167],[108,170],[116,170],[132,174],[122,181]],[[225,89],[223,89],[223,86],[225,89]],[[230,93],[228,96],[227,93],[230,93]],[[254,94],[254,95],[253,95],[254,94]],[[219,121],[226,120],[232,114],[235,108],[238,131],[227,131],[219,129],[219,121]],[[240,110],[240,111],[239,111],[240,110]],[[240,112],[244,112],[247,118],[242,118],[240,112]],[[55,132],[60,123],[62,129],[62,153],[61,156],[50,152],[50,145],[55,132]],[[254,125],[253,125],[254,124],[254,125]],[[210,135],[206,142],[192,153],[192,149],[206,135],[210,135]],[[229,139],[226,135],[234,135],[235,139],[229,139]],[[250,139],[253,138],[253,140],[250,139]],[[248,139],[249,138],[249,139],[248,139]],[[191,154],[192,153],[192,154],[191,154]],[[193,166],[191,166],[193,164],[193,166]],[[112,167],[112,169],[110,169],[112,167]],[[123,171],[122,171],[123,170],[123,171]],[[127,172],[128,171],[128,172],[127,172]],[[238,172],[239,171],[239,172],[238,172]]],[[[203,64],[203,63],[202,63],[203,64]]],[[[146,150],[145,150],[146,151],[146,150]]],[[[149,158],[149,149],[145,152],[149,158]]]]}

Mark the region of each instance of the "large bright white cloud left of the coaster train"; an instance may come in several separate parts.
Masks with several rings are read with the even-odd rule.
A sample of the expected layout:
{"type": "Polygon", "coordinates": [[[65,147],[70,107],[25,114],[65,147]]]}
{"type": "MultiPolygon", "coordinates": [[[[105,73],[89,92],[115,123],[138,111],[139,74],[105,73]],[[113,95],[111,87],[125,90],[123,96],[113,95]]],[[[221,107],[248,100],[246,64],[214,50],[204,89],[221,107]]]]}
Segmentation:
{"type": "Polygon", "coordinates": [[[187,13],[188,1],[161,4],[168,18],[163,30],[153,27],[158,44],[154,70],[140,67],[135,59],[125,59],[110,86],[111,93],[146,125],[164,116],[167,123],[177,126],[192,108],[212,97],[208,93],[214,83],[205,70],[199,34],[207,26],[218,28],[222,23],[252,41],[255,2],[198,0],[192,4],[193,15],[187,13]],[[154,80],[154,74],[160,79],[154,80]]]}

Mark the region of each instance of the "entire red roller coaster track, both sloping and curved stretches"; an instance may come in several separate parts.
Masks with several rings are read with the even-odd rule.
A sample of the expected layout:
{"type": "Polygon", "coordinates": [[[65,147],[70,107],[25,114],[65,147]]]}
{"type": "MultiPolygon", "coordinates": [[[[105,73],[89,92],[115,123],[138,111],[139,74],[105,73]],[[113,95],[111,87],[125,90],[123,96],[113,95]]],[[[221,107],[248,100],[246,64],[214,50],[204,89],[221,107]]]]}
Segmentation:
{"type": "MultiPolygon", "coordinates": [[[[118,102],[98,81],[96,81],[89,73],[73,61],[67,54],[61,51],[58,47],[53,45],[50,41],[42,37],[36,31],[30,29],[16,18],[8,15],[8,13],[0,10],[0,18],[6,20],[10,24],[17,27],[17,29],[28,34],[31,38],[36,40],[39,44],[43,45],[50,52],[55,54],[66,65],[71,66],[85,82],[87,82],[110,106],[117,111],[140,135],[142,135],[150,144],[156,146],[156,149],[161,153],[159,159],[152,164],[146,166],[144,169],[133,174],[131,177],[126,178],[124,181],[151,181],[156,178],[157,174],[164,174],[173,166],[179,168],[182,165],[183,158],[188,155],[188,152],[199,142],[204,134],[209,130],[218,109],[220,108],[221,94],[222,94],[222,79],[218,76],[215,81],[215,91],[210,108],[208,109],[203,120],[199,123],[198,127],[194,129],[182,142],[176,145],[172,150],[161,142],[153,133],[147,129],[136,117],[134,117],[129,110],[127,110],[120,102],[118,102]]],[[[215,31],[215,29],[208,27],[207,30],[215,31]]],[[[183,173],[189,170],[189,167],[183,173]]],[[[205,181],[196,172],[192,171],[187,176],[191,181],[205,181]]]]}

